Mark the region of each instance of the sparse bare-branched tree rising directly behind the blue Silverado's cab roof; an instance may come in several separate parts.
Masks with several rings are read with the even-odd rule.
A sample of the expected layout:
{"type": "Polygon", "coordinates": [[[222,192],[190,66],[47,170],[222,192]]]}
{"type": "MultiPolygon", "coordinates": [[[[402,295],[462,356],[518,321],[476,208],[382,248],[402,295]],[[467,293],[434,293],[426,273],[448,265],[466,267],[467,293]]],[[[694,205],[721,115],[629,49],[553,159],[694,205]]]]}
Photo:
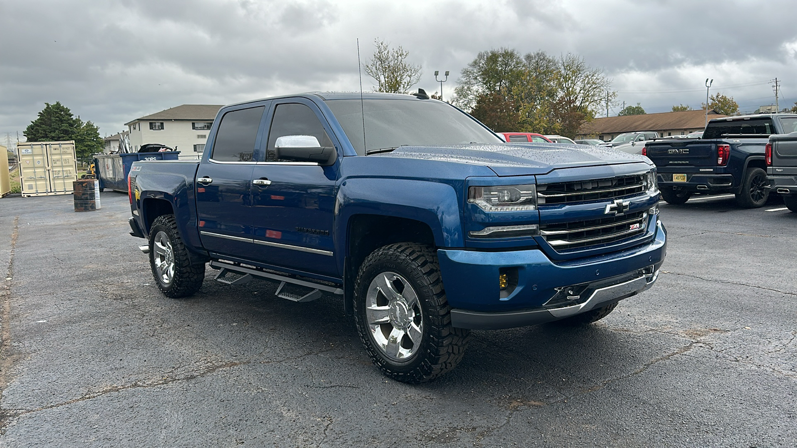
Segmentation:
{"type": "Polygon", "coordinates": [[[375,39],[376,51],[365,66],[365,73],[379,84],[376,92],[406,93],[421,81],[421,66],[406,61],[410,52],[398,46],[391,49],[387,42],[375,39]]]}

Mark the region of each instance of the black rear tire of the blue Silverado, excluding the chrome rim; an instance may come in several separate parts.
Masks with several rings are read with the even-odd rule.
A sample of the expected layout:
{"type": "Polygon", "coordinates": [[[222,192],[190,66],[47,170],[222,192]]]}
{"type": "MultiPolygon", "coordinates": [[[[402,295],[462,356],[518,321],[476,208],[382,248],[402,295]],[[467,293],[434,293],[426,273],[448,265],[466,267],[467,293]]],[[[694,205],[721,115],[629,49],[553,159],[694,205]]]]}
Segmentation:
{"type": "Polygon", "coordinates": [[[202,281],[205,280],[205,263],[195,265],[190,263],[188,250],[177,230],[175,215],[164,214],[155,218],[150,230],[149,246],[152,277],[155,277],[155,283],[161,293],[167,297],[178,298],[190,296],[199,290],[202,281]],[[164,242],[169,243],[174,263],[171,281],[166,281],[159,275],[159,268],[156,265],[156,259],[161,257],[159,253],[163,253],[163,247],[159,247],[158,244],[164,246],[164,242]]]}

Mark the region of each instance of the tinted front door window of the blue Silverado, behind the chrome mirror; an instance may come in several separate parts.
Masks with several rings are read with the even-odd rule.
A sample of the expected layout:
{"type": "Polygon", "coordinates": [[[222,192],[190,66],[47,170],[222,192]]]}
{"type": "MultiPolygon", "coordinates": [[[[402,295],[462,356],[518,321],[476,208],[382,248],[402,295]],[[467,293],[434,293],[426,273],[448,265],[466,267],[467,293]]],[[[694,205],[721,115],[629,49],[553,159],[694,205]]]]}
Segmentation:
{"type": "Polygon", "coordinates": [[[278,104],[274,111],[274,118],[271,120],[271,130],[269,131],[269,146],[266,147],[266,160],[269,162],[277,161],[274,155],[274,143],[277,139],[284,136],[314,136],[322,147],[332,147],[332,140],[329,139],[324,126],[304,104],[289,103],[278,104]]]}

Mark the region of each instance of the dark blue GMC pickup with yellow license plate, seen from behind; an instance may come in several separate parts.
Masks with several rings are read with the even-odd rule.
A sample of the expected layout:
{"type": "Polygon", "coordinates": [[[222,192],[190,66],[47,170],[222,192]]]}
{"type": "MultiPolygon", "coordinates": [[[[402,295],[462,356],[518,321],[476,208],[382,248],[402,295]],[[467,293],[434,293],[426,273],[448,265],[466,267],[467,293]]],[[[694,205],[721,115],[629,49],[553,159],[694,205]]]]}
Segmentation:
{"type": "Polygon", "coordinates": [[[733,193],[739,206],[760,207],[769,196],[769,136],[793,129],[795,120],[791,114],[716,118],[699,139],[654,140],[643,154],[656,163],[662,198],[670,204],[683,204],[695,193],[733,193]]]}

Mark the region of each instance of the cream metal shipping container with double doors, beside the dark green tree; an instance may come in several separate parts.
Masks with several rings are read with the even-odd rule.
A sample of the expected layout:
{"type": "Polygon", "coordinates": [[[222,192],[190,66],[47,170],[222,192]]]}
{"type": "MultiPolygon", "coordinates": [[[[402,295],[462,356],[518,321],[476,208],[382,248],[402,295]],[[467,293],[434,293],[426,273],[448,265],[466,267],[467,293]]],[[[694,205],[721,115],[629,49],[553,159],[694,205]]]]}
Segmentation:
{"type": "Polygon", "coordinates": [[[17,144],[22,196],[71,195],[77,180],[75,141],[17,144]]]}

